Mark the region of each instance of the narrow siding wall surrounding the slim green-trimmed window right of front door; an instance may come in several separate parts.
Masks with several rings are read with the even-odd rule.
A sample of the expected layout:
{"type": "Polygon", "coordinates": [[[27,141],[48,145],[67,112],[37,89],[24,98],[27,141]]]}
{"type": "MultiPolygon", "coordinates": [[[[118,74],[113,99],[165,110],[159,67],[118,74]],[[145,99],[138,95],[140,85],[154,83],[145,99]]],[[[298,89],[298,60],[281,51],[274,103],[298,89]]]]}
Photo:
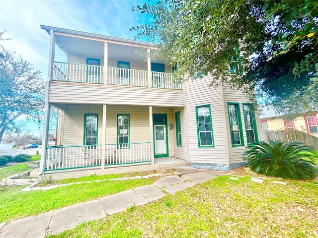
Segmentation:
{"type": "Polygon", "coordinates": [[[188,160],[188,154],[187,154],[187,146],[188,146],[188,140],[187,140],[187,133],[186,133],[186,123],[185,123],[185,118],[186,118],[186,112],[184,108],[173,108],[172,111],[172,116],[173,116],[173,137],[174,137],[174,156],[177,158],[181,158],[184,160],[188,160]],[[177,146],[176,145],[176,124],[175,124],[175,113],[180,112],[180,119],[181,119],[181,142],[182,146],[177,146]]]}

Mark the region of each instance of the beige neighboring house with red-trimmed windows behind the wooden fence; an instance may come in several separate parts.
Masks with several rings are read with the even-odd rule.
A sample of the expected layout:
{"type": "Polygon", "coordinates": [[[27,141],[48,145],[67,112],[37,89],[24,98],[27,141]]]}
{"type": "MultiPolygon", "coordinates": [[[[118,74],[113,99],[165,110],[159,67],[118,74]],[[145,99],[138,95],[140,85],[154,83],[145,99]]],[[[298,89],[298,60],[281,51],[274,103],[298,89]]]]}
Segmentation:
{"type": "Polygon", "coordinates": [[[293,120],[286,120],[284,116],[276,116],[272,111],[265,111],[260,116],[261,130],[300,130],[307,134],[318,136],[318,111],[313,111],[293,120]]]}

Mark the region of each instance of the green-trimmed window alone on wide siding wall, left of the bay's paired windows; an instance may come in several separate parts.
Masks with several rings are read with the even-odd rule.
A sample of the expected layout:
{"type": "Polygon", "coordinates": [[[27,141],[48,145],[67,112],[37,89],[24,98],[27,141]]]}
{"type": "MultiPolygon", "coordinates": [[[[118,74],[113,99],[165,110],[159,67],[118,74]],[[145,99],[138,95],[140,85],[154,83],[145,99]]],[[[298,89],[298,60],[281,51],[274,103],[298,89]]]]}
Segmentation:
{"type": "Polygon", "coordinates": [[[196,107],[198,145],[214,147],[210,105],[196,107]]]}

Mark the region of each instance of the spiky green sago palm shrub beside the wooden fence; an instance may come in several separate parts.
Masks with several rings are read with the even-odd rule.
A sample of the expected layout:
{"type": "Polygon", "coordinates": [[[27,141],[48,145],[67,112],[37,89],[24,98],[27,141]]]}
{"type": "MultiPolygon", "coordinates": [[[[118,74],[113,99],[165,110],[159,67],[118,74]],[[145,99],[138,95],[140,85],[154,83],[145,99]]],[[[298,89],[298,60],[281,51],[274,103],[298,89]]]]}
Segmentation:
{"type": "Polygon", "coordinates": [[[318,153],[298,141],[256,142],[247,147],[244,159],[258,174],[283,179],[314,179],[318,176],[315,166],[318,153]]]}

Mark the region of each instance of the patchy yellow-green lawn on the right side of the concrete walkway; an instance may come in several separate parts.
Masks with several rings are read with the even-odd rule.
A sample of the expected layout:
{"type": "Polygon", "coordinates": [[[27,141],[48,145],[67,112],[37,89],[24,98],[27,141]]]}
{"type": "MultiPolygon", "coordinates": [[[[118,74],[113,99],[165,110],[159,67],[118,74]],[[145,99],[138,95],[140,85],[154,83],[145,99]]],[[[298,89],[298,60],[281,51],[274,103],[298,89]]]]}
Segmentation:
{"type": "Polygon", "coordinates": [[[50,238],[318,237],[315,181],[238,178],[218,177],[50,238]]]}

